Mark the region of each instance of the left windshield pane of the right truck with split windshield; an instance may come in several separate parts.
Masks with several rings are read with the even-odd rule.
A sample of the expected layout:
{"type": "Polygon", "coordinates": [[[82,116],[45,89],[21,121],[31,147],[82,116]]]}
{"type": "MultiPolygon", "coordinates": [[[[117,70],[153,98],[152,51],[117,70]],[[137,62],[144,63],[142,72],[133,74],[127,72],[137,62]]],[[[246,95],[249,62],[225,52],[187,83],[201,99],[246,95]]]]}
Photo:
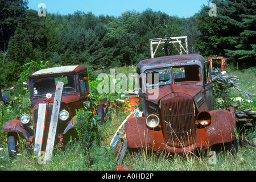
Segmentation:
{"type": "Polygon", "coordinates": [[[147,86],[171,84],[171,68],[146,72],[147,86]]]}

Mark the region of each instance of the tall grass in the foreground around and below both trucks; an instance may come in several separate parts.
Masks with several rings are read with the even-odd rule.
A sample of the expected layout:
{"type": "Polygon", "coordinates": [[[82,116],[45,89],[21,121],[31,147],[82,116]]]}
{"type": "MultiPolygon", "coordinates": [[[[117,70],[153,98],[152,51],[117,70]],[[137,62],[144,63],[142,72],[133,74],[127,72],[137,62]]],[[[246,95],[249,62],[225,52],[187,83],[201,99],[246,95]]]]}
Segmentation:
{"type": "MultiPolygon", "coordinates": [[[[9,160],[6,143],[1,143],[0,170],[36,170],[36,171],[105,171],[114,170],[117,163],[114,162],[114,154],[109,143],[126,117],[122,111],[112,113],[109,121],[104,124],[101,135],[101,144],[93,143],[88,152],[82,152],[80,140],[71,140],[65,149],[55,148],[52,159],[46,165],[39,164],[39,158],[27,151],[25,143],[21,141],[20,155],[9,160]]],[[[247,130],[245,137],[255,135],[255,130],[247,130]]],[[[209,152],[209,151],[208,151],[209,152]]],[[[127,150],[122,165],[139,171],[197,171],[197,170],[255,170],[255,148],[240,145],[236,155],[228,151],[216,153],[216,164],[210,163],[213,156],[194,154],[170,154],[166,151],[156,152],[149,148],[127,150]]]]}

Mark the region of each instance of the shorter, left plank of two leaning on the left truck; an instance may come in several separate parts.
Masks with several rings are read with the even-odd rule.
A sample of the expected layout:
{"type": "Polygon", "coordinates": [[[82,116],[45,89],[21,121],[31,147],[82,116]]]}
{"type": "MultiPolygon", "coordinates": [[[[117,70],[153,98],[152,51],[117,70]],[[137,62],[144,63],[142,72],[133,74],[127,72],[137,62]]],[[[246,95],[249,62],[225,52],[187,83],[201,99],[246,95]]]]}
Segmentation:
{"type": "Polygon", "coordinates": [[[34,154],[40,156],[42,149],[44,125],[46,118],[46,106],[47,104],[39,104],[38,107],[38,121],[36,123],[36,136],[35,136],[35,147],[34,154]]]}

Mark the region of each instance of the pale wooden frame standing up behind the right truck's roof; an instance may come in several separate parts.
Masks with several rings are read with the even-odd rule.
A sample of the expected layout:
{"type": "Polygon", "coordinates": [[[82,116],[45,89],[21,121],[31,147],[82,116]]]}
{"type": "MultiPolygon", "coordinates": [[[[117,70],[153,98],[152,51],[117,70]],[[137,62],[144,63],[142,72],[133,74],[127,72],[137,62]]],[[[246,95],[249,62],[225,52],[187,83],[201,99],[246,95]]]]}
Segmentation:
{"type": "Polygon", "coordinates": [[[172,44],[176,48],[177,52],[179,52],[179,55],[182,55],[183,50],[188,55],[188,38],[187,38],[187,36],[177,36],[177,37],[170,37],[170,38],[150,39],[150,55],[151,55],[151,58],[154,58],[155,53],[156,53],[157,49],[159,48],[159,45],[160,44],[165,44],[167,40],[170,44],[172,44]],[[182,39],[185,39],[185,46],[183,46],[182,43],[181,43],[182,39]],[[175,43],[179,44],[179,49],[177,48],[175,43]],[[157,44],[157,46],[155,48],[155,51],[154,51],[154,48],[153,48],[153,44],[157,44]]]}

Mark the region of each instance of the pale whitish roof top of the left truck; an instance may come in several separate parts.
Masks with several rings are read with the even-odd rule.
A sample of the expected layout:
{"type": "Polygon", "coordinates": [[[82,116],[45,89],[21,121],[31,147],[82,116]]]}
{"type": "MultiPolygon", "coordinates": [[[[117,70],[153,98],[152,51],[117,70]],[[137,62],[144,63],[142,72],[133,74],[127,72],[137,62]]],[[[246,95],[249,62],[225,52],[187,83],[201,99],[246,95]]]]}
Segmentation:
{"type": "MultiPolygon", "coordinates": [[[[68,73],[68,72],[81,72],[84,70],[86,70],[85,66],[72,65],[72,66],[42,69],[42,70],[36,71],[34,73],[31,73],[30,76],[52,75],[52,74],[56,74],[56,73],[68,73]]],[[[28,76],[28,77],[30,77],[30,76],[28,76]]]]}

